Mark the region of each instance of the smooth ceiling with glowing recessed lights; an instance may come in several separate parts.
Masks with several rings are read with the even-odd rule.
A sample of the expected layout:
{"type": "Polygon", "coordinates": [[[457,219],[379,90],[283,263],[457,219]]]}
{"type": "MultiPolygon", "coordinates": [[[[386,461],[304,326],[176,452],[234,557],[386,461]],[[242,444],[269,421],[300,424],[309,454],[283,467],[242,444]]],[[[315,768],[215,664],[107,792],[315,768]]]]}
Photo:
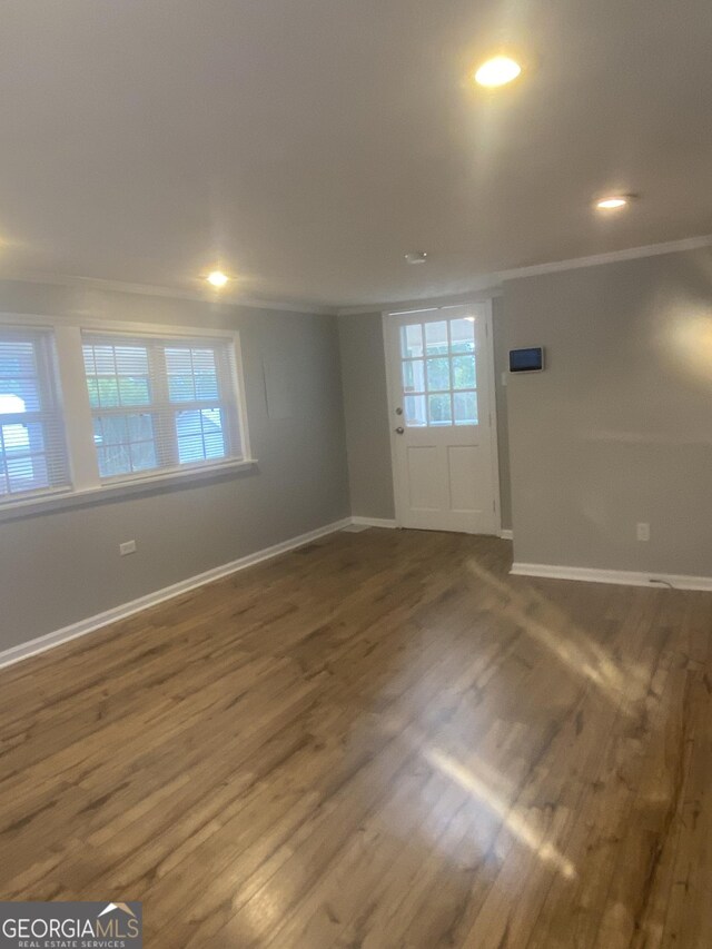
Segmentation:
{"type": "Polygon", "coordinates": [[[709,234],[711,36],[709,0],[4,0],[0,276],[348,306],[709,234]]]}

